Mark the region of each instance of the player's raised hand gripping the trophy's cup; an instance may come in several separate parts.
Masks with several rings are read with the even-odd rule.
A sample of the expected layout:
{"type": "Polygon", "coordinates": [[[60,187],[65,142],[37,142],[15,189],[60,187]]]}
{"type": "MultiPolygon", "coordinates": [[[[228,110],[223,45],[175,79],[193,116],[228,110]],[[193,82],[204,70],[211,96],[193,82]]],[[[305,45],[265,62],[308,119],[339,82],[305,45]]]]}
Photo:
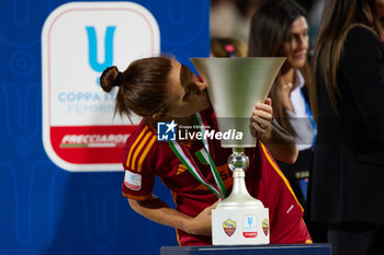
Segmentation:
{"type": "Polygon", "coordinates": [[[252,136],[260,138],[261,140],[271,139],[273,130],[272,119],[272,100],[268,97],[264,103],[257,103],[250,119],[250,130],[252,136]]]}

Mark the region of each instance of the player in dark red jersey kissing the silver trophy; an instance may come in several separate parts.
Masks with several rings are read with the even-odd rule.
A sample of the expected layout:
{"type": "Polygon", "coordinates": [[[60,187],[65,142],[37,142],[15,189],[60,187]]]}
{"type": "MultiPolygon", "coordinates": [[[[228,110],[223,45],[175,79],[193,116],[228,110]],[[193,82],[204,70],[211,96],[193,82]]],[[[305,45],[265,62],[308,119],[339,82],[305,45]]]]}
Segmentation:
{"type": "MultiPolygon", "coordinates": [[[[131,207],[155,222],[176,228],[180,245],[212,244],[211,210],[219,197],[230,193],[233,178],[227,159],[231,150],[222,148],[217,140],[207,140],[207,146],[199,139],[168,143],[157,140],[156,130],[157,121],[200,124],[217,130],[205,82],[185,66],[165,57],[136,60],[124,72],[110,67],[100,81],[105,92],[118,86],[120,114],[143,117],[127,139],[123,155],[123,194],[131,207]],[[191,170],[196,172],[192,174],[191,170]],[[221,176],[217,183],[215,171],[221,176]],[[155,175],[172,192],[176,210],[153,195],[155,175]]],[[[271,105],[257,104],[250,117],[252,132],[269,142],[278,158],[282,148],[294,148],[294,143],[273,142],[282,141],[286,134],[271,124],[271,105]]],[[[310,242],[303,209],[261,140],[246,154],[250,159],[246,171],[248,190],[270,210],[270,242],[310,242]]]]}

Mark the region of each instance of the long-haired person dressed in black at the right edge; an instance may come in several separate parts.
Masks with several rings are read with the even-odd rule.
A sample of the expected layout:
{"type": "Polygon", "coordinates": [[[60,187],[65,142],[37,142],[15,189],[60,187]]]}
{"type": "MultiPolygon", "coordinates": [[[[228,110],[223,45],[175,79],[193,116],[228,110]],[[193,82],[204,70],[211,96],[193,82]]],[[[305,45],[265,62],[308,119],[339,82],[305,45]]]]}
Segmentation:
{"type": "Polygon", "coordinates": [[[383,0],[327,0],[310,90],[313,220],[335,255],[384,254],[383,0]]]}

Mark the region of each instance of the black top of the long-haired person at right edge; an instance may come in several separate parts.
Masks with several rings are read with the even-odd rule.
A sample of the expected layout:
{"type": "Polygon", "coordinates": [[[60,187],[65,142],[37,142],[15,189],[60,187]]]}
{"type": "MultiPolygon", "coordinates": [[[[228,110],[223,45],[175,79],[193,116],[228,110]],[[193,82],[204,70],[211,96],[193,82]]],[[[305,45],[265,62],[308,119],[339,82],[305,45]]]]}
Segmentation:
{"type": "Polygon", "coordinates": [[[339,117],[317,71],[319,119],[310,218],[383,223],[384,46],[370,30],[350,30],[337,79],[339,117]]]}

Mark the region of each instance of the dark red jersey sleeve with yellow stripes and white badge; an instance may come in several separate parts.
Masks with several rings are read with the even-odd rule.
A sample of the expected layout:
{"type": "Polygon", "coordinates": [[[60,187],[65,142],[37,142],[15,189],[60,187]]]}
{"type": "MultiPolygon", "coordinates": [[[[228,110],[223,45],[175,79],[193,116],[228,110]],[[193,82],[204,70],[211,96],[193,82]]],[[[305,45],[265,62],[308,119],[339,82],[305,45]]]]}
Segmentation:
{"type": "Polygon", "coordinates": [[[125,175],[122,192],[125,197],[135,200],[151,197],[155,185],[155,141],[156,134],[147,126],[128,138],[123,155],[125,175]]]}

